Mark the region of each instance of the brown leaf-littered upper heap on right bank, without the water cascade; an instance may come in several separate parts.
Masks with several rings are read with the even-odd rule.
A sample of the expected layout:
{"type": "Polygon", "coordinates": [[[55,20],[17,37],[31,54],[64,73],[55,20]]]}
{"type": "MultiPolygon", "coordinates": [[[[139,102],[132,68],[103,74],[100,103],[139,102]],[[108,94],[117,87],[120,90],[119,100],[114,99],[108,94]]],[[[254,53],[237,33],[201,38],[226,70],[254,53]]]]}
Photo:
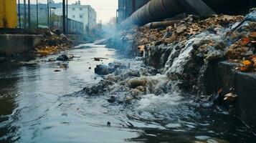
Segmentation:
{"type": "Polygon", "coordinates": [[[133,30],[123,32],[123,36],[132,34],[133,49],[138,48],[141,55],[144,55],[145,63],[157,69],[165,68],[172,52],[176,52],[176,55],[173,53],[174,57],[179,56],[188,41],[199,34],[205,34],[207,39],[190,42],[197,59],[203,59],[204,62],[213,59],[229,60],[238,64],[237,70],[256,71],[255,15],[255,11],[247,16],[214,15],[204,18],[190,15],[166,29],[133,27],[133,30]]]}

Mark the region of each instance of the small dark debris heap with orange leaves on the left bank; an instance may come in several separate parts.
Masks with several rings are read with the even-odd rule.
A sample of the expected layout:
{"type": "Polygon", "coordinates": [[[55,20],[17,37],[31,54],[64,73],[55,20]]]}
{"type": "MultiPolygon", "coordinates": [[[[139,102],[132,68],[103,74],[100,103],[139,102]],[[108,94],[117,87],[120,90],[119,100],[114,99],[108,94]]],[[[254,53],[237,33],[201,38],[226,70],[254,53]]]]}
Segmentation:
{"type": "Polygon", "coordinates": [[[42,56],[65,51],[75,46],[74,41],[68,39],[59,29],[52,31],[49,29],[38,29],[37,33],[42,34],[43,38],[41,44],[34,49],[37,54],[42,56]]]}

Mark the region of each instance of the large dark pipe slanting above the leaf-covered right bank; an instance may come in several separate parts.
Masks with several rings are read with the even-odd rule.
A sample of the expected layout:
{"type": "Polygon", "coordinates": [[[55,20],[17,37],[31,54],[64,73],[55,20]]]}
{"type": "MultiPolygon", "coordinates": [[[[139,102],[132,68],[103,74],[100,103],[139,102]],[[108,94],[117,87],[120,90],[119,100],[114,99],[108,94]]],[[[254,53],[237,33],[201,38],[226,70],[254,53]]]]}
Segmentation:
{"type": "Polygon", "coordinates": [[[250,0],[151,0],[121,23],[122,27],[143,26],[178,14],[209,16],[212,14],[242,14],[250,0]]]}

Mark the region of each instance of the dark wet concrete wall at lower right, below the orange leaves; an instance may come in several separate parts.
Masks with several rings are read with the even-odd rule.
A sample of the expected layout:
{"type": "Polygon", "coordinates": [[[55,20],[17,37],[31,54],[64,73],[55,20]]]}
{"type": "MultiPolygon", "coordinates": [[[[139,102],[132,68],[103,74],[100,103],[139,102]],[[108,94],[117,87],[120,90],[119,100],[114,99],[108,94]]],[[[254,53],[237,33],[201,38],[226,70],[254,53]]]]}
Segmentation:
{"type": "MultiPolygon", "coordinates": [[[[228,61],[214,61],[204,74],[204,94],[216,93],[222,89],[224,94],[234,88],[238,95],[234,114],[256,131],[256,73],[245,73],[235,69],[237,64],[228,61]]],[[[229,107],[228,103],[225,106],[229,107]]]]}

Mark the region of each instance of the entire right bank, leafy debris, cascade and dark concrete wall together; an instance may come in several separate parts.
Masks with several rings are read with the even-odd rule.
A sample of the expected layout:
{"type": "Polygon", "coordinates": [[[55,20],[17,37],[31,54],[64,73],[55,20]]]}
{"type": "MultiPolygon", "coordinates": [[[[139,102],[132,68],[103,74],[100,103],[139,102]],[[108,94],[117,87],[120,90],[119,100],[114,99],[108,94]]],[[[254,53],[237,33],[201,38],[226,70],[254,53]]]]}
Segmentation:
{"type": "Polygon", "coordinates": [[[133,27],[107,43],[143,56],[180,89],[227,107],[255,130],[255,13],[189,16],[166,29],[133,27]]]}

